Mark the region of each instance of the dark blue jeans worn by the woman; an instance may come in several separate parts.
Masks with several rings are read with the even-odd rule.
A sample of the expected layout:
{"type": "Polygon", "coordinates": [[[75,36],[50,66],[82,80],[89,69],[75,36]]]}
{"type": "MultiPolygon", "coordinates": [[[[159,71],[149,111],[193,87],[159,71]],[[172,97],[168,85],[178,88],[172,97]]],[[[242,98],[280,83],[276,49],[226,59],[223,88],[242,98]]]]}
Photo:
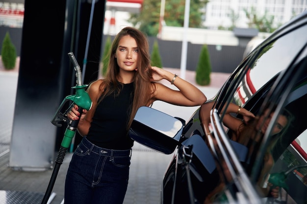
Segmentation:
{"type": "Polygon", "coordinates": [[[130,157],[131,149],[104,149],[83,137],[67,171],[65,204],[122,204],[130,157]]]}

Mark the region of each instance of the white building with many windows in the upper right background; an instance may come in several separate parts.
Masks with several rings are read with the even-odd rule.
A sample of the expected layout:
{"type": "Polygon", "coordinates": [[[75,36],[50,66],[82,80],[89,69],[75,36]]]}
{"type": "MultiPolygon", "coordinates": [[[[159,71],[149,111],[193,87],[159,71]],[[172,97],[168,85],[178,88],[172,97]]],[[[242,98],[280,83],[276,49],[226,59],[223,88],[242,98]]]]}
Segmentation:
{"type": "Polygon", "coordinates": [[[307,0],[210,0],[206,6],[204,25],[211,29],[230,27],[233,11],[234,15],[238,15],[235,26],[247,28],[248,19],[244,9],[251,11],[252,7],[259,16],[265,15],[265,12],[274,16],[274,23],[278,25],[306,10],[307,0]]]}

